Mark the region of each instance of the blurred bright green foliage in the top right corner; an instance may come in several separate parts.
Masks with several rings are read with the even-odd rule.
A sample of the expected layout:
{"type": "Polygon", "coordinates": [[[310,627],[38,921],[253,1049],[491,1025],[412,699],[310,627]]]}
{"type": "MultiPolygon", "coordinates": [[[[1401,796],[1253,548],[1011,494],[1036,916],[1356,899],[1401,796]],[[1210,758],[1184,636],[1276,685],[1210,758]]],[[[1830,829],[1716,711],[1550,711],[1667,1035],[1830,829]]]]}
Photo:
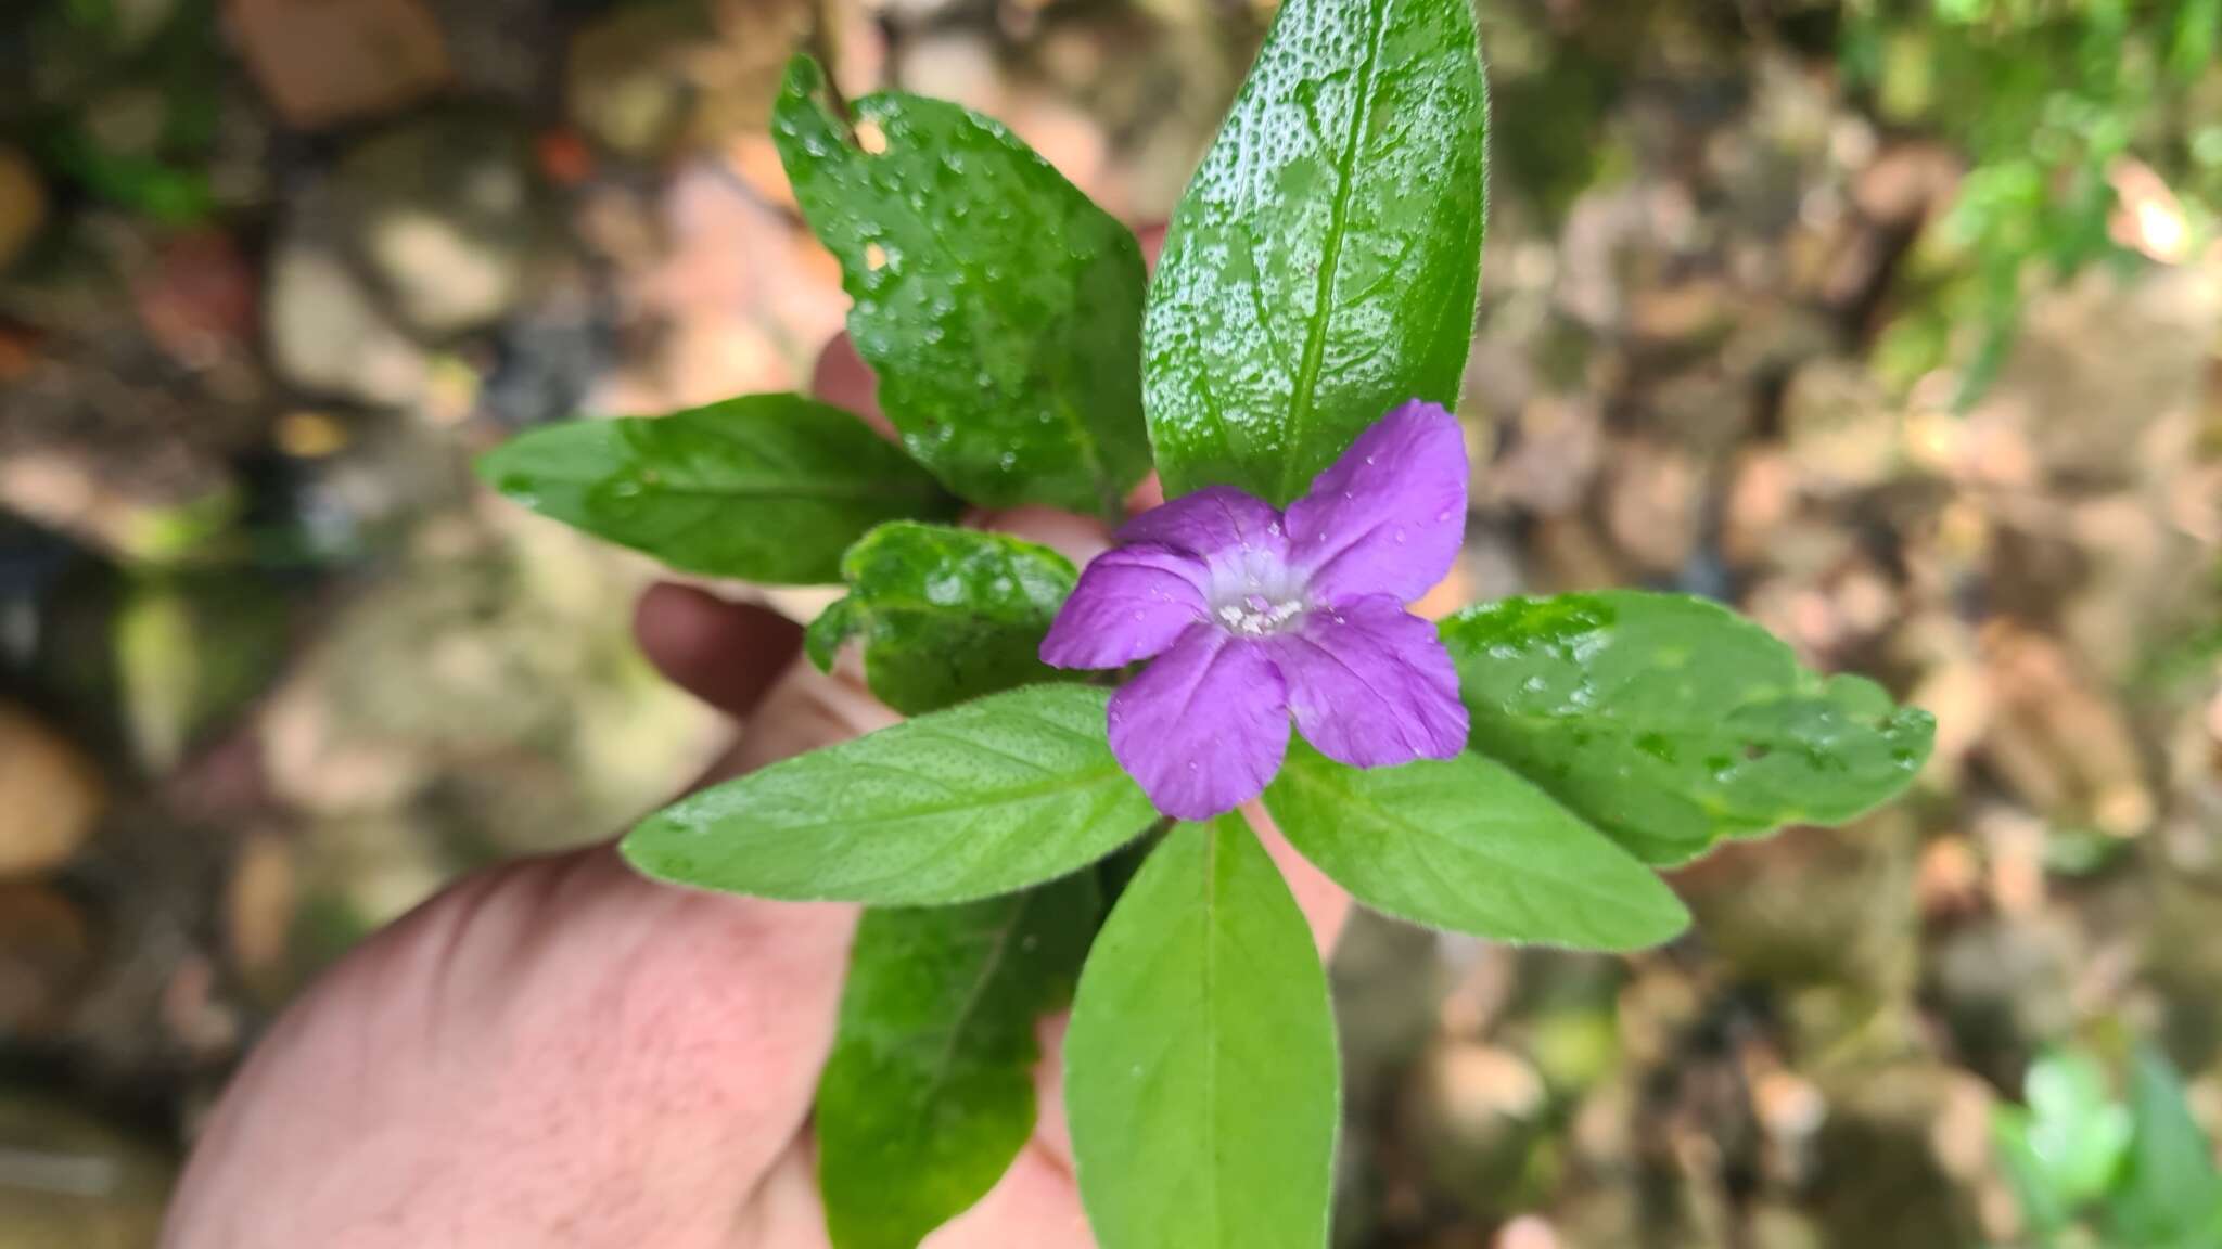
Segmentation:
{"type": "Polygon", "coordinates": [[[1880,349],[1900,380],[1998,378],[2033,282],[2126,260],[2111,238],[2126,162],[2182,207],[2184,251],[2222,204],[2222,0],[1849,0],[1840,56],[1878,116],[1969,160],[1922,256],[1935,289],[1880,349]],[[1964,329],[1964,336],[1955,336],[1964,329]]]}

